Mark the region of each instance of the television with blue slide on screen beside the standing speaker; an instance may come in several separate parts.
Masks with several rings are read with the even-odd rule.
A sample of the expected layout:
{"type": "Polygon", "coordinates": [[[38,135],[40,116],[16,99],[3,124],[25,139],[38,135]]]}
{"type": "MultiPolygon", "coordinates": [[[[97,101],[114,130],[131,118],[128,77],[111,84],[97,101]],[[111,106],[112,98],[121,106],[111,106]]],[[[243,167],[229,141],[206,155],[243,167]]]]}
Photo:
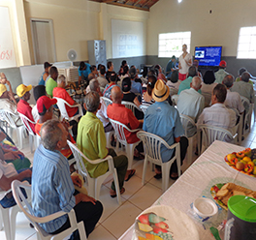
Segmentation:
{"type": "Polygon", "coordinates": [[[216,67],[221,61],[222,46],[196,46],[195,59],[199,66],[216,67]]]}

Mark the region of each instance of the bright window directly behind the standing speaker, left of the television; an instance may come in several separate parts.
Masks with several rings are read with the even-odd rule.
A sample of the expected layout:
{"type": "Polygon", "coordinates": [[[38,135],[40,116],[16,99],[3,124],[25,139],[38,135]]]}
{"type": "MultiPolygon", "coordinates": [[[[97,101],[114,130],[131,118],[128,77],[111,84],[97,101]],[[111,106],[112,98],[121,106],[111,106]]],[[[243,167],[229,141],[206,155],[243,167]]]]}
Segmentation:
{"type": "Polygon", "coordinates": [[[182,45],[187,45],[190,51],[191,32],[161,33],[158,42],[158,57],[179,57],[182,53],[182,45]]]}

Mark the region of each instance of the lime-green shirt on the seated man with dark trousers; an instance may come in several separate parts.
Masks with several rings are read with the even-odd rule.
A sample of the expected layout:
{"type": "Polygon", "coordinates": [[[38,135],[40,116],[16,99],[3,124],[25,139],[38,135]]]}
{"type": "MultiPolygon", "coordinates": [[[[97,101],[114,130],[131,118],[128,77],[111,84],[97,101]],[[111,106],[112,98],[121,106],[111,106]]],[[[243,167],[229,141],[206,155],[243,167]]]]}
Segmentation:
{"type": "MultiPolygon", "coordinates": [[[[104,127],[95,114],[87,111],[81,117],[77,144],[80,151],[90,160],[104,159],[108,155],[104,127]]],[[[91,177],[103,175],[109,168],[108,161],[98,165],[89,164],[86,160],[83,160],[83,163],[91,177]]]]}

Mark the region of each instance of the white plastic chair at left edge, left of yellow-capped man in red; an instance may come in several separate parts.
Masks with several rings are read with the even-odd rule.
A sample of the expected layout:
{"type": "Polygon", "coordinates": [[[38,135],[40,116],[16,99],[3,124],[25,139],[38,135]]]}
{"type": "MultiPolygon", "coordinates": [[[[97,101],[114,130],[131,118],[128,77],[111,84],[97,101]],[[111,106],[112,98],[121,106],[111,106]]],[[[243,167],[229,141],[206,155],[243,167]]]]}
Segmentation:
{"type": "MultiPolygon", "coordinates": [[[[12,118],[12,116],[16,116],[16,114],[14,114],[11,110],[0,109],[0,120],[2,122],[6,122],[9,125],[12,139],[13,139],[13,131],[14,131],[14,129],[16,130],[18,147],[19,147],[19,149],[22,149],[22,147],[23,147],[22,133],[24,130],[24,126],[23,125],[16,126],[16,123],[15,123],[14,119],[12,118]]],[[[6,132],[7,132],[7,128],[6,128],[6,132]]]]}

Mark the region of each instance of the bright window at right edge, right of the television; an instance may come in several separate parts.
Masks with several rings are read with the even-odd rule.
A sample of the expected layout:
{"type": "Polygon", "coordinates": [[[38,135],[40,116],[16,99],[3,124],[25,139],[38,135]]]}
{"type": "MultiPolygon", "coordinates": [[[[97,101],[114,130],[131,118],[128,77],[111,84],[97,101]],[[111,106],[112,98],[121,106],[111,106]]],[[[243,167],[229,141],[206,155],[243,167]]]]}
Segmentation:
{"type": "Polygon", "coordinates": [[[237,58],[256,58],[256,26],[240,28],[237,58]]]}

